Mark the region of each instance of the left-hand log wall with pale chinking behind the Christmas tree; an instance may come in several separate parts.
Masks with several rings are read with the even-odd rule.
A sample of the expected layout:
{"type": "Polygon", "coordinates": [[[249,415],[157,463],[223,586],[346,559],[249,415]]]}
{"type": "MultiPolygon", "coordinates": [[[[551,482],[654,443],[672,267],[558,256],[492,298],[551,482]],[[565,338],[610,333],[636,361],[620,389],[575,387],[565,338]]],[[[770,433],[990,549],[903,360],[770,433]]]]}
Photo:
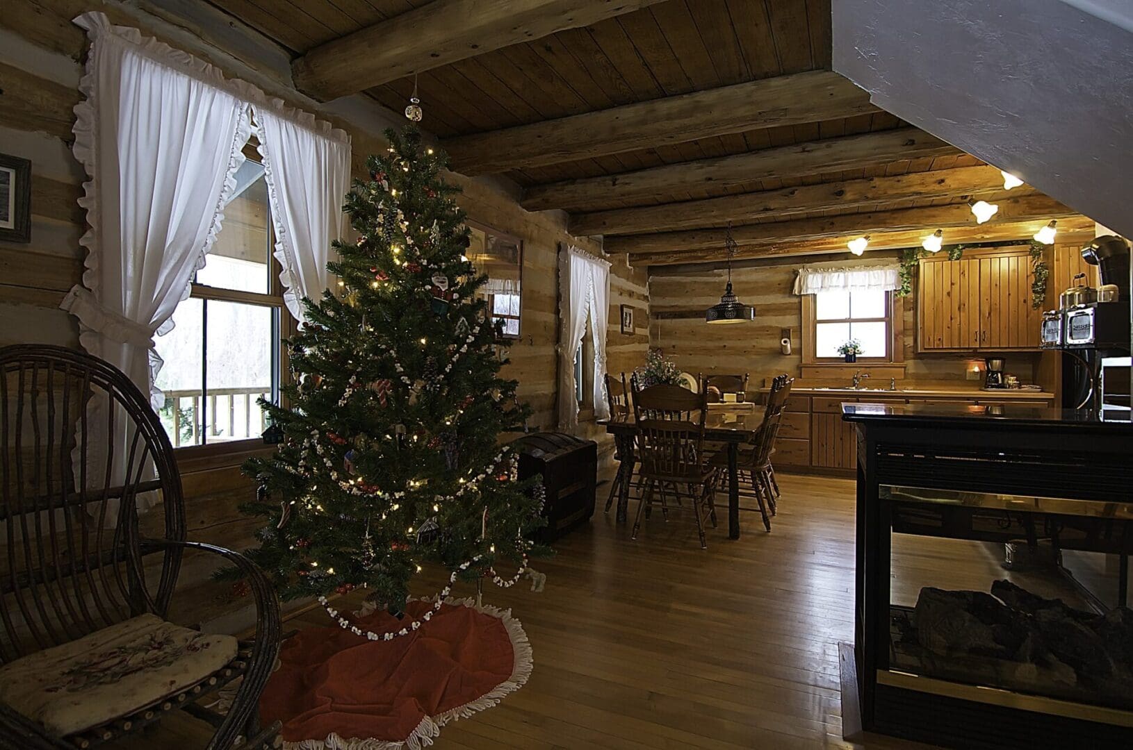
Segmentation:
{"type": "MultiPolygon", "coordinates": [[[[71,107],[79,101],[77,84],[86,40],[70,19],[86,10],[101,10],[112,23],[140,28],[346,129],[353,140],[353,166],[359,176],[365,157],[385,148],[381,131],[404,122],[363,96],[329,105],[301,96],[290,84],[289,60],[282,49],[207,3],[6,0],[0,14],[0,152],[32,160],[33,224],[29,244],[0,242],[0,346],[50,343],[78,347],[78,327],[59,303],[80,281],[83,270],[84,251],[78,240],[85,231],[85,217],[75,201],[84,174],[70,152],[70,129],[71,107]]],[[[573,243],[600,255],[600,243],[569,235],[562,213],[523,210],[518,205],[518,190],[510,183],[459,174],[449,179],[463,188],[459,202],[471,219],[523,241],[522,338],[512,347],[504,374],[519,380],[519,395],[535,412],[531,424],[554,429],[556,253],[561,244],[573,243]]],[[[645,271],[630,269],[624,257],[612,260],[608,356],[614,370],[644,360],[648,322],[645,271]],[[639,308],[633,336],[617,333],[622,303],[639,308]]],[[[600,431],[583,423],[579,432],[600,437],[603,456],[608,459],[612,451],[600,431]]],[[[190,538],[235,549],[254,542],[257,521],[241,517],[236,509],[252,491],[238,469],[241,459],[220,456],[182,463],[190,538]]],[[[233,609],[233,602],[227,587],[210,580],[210,571],[208,564],[186,562],[181,601],[190,606],[182,610],[182,619],[211,621],[228,629],[241,627],[247,622],[247,607],[236,617],[218,619],[233,609]]]]}

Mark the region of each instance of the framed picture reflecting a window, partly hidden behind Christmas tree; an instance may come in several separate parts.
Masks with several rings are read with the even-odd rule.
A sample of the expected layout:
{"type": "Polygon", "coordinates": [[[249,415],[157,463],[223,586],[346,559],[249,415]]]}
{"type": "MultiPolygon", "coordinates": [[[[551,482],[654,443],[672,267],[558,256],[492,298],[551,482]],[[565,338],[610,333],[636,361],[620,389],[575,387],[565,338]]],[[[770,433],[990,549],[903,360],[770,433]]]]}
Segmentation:
{"type": "Polygon", "coordinates": [[[493,229],[465,222],[471,240],[465,253],[477,274],[487,283],[477,294],[488,303],[492,322],[499,324],[503,338],[519,338],[522,310],[523,241],[493,229]]]}

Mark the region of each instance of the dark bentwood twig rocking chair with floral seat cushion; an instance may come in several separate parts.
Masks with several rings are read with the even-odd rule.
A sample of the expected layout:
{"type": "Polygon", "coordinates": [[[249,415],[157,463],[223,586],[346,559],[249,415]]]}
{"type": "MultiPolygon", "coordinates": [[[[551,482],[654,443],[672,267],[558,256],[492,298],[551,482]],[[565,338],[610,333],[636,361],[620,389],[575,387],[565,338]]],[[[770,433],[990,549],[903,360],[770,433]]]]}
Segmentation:
{"type": "Polygon", "coordinates": [[[147,398],[90,355],[8,346],[0,428],[0,748],[94,748],[173,708],[213,724],[208,750],[275,747],[279,726],[259,726],[257,704],[279,600],[242,555],[186,541],[181,477],[147,398]],[[138,501],[159,495],[163,533],[147,538],[138,501]],[[246,574],[253,640],[168,620],[186,550],[246,574]],[[227,714],[205,706],[238,678],[227,714]]]}

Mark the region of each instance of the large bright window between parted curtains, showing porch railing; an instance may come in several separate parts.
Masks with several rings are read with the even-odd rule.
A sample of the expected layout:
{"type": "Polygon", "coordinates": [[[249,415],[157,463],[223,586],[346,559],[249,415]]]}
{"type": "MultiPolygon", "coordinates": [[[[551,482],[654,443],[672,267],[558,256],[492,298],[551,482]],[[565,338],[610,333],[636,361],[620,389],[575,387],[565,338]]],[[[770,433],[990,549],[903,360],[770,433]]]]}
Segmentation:
{"type": "Polygon", "coordinates": [[[266,424],[257,399],[279,403],[288,318],[264,167],[248,158],[236,179],[190,295],[173,311],[173,329],[156,338],[159,415],[174,448],[258,438],[266,424]]]}

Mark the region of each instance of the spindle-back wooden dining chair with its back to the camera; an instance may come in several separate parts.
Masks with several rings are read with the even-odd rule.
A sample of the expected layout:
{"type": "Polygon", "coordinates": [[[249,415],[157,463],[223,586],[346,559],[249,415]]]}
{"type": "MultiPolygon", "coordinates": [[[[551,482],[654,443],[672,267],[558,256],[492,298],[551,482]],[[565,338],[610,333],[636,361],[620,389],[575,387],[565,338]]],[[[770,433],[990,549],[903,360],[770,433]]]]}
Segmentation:
{"type": "Polygon", "coordinates": [[[661,497],[661,510],[667,520],[666,488],[676,498],[683,488],[692,501],[700,549],[708,549],[705,519],[716,526],[716,468],[708,465],[704,451],[708,414],[705,394],[693,394],[680,386],[649,386],[633,394],[633,414],[645,492],[638,503],[631,538],[637,538],[656,495],[661,497]]]}

